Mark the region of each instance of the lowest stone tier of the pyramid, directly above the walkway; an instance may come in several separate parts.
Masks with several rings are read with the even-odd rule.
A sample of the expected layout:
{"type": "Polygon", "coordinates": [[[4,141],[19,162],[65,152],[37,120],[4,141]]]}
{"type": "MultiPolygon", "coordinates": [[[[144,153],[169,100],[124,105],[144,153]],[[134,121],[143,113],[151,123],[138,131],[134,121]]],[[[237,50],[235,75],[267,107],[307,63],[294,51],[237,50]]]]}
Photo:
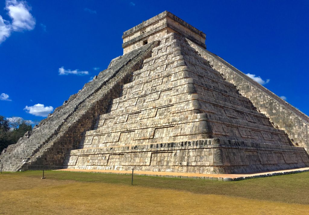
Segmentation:
{"type": "Polygon", "coordinates": [[[304,148],[225,139],[71,150],[68,169],[239,174],[309,167],[304,148]]]}

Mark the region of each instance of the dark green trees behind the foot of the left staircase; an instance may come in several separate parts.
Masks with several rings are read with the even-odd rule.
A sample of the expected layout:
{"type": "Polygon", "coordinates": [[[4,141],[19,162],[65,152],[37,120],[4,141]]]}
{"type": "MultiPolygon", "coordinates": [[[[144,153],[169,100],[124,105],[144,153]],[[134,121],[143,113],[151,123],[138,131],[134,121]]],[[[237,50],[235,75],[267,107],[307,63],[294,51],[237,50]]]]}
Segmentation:
{"type": "Polygon", "coordinates": [[[9,121],[0,115],[0,153],[11,144],[17,143],[27,131],[32,131],[28,121],[20,117],[11,117],[9,121]]]}

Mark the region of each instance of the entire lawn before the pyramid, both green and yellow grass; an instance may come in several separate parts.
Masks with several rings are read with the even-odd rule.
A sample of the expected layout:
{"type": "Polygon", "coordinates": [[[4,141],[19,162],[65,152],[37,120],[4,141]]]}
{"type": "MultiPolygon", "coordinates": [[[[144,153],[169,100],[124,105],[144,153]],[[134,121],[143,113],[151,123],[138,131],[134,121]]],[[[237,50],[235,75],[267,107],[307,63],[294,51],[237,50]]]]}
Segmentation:
{"type": "Polygon", "coordinates": [[[309,214],[309,172],[236,182],[64,171],[0,175],[0,214],[309,214]]]}

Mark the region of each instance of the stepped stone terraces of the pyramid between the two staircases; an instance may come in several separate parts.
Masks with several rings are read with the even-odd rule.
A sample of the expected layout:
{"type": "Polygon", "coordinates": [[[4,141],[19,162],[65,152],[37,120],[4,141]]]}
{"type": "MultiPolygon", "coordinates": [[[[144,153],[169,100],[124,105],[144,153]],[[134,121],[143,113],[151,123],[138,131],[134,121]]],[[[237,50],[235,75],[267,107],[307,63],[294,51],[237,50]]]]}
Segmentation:
{"type": "Polygon", "coordinates": [[[254,111],[248,98],[176,35],[161,37],[152,57],[123,86],[121,97],[85,133],[79,149],[67,153],[67,168],[231,174],[309,165],[303,148],[291,146],[283,131],[254,111]],[[169,93],[158,97],[167,89],[169,93]],[[181,112],[199,123],[184,126],[181,112]]]}

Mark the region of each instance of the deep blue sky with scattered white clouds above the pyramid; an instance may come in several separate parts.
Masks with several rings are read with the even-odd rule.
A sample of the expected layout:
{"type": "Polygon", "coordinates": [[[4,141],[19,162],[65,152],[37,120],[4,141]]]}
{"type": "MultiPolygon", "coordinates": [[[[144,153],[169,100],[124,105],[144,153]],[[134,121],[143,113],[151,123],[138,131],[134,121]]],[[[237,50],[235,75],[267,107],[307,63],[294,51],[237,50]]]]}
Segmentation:
{"type": "Polygon", "coordinates": [[[43,119],[122,55],[125,30],[165,10],[309,115],[308,0],[0,0],[0,115],[43,119]]]}

